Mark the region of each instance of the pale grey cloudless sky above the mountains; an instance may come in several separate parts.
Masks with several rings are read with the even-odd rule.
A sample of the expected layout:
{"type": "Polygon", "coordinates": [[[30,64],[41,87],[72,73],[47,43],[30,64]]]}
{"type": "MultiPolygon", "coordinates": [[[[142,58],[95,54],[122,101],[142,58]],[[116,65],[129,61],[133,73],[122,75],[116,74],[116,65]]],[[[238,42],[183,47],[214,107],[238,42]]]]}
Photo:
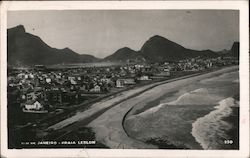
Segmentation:
{"type": "Polygon", "coordinates": [[[51,47],[100,58],[122,47],[140,50],[154,35],[195,50],[230,49],[239,41],[236,10],[9,11],[7,24],[23,25],[51,47]]]}

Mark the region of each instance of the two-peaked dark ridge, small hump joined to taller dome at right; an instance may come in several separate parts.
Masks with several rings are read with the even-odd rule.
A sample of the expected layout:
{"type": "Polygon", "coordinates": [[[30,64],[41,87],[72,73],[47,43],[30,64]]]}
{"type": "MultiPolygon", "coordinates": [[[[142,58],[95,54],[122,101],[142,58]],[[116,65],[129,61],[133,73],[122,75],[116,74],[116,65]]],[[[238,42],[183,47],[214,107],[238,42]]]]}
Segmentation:
{"type": "Polygon", "coordinates": [[[191,50],[172,42],[164,37],[155,35],[147,40],[140,51],[134,51],[128,47],[117,50],[112,55],[106,57],[105,61],[177,61],[190,57],[217,57],[219,54],[211,50],[191,50]]]}

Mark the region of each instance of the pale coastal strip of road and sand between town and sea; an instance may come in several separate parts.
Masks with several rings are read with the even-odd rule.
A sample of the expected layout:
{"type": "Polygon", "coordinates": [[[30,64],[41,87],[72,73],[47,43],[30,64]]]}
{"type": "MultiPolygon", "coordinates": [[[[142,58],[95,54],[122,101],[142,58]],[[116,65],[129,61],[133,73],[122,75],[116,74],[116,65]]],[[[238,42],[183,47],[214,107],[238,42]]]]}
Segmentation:
{"type": "MultiPolygon", "coordinates": [[[[151,105],[151,103],[158,104],[159,101],[157,101],[157,99],[155,100],[154,97],[152,98],[151,95],[155,95],[155,92],[159,93],[159,89],[163,88],[168,91],[175,88],[176,91],[172,92],[174,95],[174,93],[177,92],[178,87],[182,87],[183,84],[190,84],[201,78],[207,78],[209,76],[218,76],[221,73],[233,70],[238,70],[238,66],[212,69],[202,73],[196,73],[178,78],[153,82],[148,85],[130,87],[129,89],[124,90],[121,93],[118,93],[114,96],[106,97],[104,99],[101,99],[99,102],[93,103],[93,105],[90,105],[90,107],[85,111],[76,111],[74,115],[70,115],[68,118],[60,122],[51,124],[50,128],[46,131],[39,131],[41,135],[44,136],[38,139],[56,141],[64,138],[74,139],[74,137],[78,135],[78,132],[81,131],[80,129],[86,127],[92,131],[91,133],[93,133],[93,137],[91,137],[91,140],[95,140],[97,142],[97,146],[89,146],[89,148],[99,148],[99,146],[104,146],[105,148],[107,147],[114,149],[188,149],[185,146],[176,144],[174,145],[168,140],[161,140],[158,138],[151,140],[149,139],[146,140],[146,142],[144,140],[142,141],[139,139],[132,138],[129,136],[126,129],[124,128],[124,121],[131,111],[135,110],[137,113],[141,113],[147,110],[148,108],[152,108],[155,106],[151,105]],[[140,104],[149,104],[149,106],[145,106],[141,109],[138,108],[138,105],[140,104]],[[99,122],[101,118],[104,120],[102,121],[102,123],[99,122]],[[108,129],[108,131],[106,131],[109,127],[111,127],[111,129],[117,132],[109,131],[111,129],[108,129]],[[100,134],[101,131],[103,131],[103,133],[100,134]]],[[[167,95],[160,96],[160,98],[169,97],[171,95],[172,94],[168,93],[167,95]]],[[[157,97],[158,96],[156,95],[156,98],[157,97]]],[[[51,121],[53,122],[54,120],[51,121]]],[[[85,137],[83,137],[82,139],[84,138],[85,137]]],[[[79,138],[79,140],[80,139],[81,138],[79,138]]],[[[27,148],[27,146],[23,146],[23,148],[27,148]]],[[[63,146],[56,146],[55,148],[63,148],[63,146]]]]}

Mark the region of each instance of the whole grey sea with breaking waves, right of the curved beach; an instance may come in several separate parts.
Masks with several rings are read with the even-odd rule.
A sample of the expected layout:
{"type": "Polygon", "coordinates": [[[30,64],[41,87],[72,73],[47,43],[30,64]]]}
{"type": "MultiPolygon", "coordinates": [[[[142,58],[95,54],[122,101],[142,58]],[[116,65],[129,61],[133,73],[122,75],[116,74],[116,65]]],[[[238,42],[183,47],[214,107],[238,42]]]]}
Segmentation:
{"type": "Polygon", "coordinates": [[[159,148],[238,149],[238,70],[172,87],[157,87],[155,99],[130,111],[129,137],[159,148]]]}

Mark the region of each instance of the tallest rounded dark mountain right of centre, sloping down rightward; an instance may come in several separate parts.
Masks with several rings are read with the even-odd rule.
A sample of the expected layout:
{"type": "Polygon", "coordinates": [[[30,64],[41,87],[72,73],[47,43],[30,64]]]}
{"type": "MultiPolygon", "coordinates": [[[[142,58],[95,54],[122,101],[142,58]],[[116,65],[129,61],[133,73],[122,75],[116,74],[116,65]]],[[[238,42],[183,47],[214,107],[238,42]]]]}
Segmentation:
{"type": "Polygon", "coordinates": [[[217,53],[211,50],[191,50],[161,36],[153,36],[144,43],[141,54],[146,60],[153,62],[176,61],[190,57],[216,57],[217,53]]]}

